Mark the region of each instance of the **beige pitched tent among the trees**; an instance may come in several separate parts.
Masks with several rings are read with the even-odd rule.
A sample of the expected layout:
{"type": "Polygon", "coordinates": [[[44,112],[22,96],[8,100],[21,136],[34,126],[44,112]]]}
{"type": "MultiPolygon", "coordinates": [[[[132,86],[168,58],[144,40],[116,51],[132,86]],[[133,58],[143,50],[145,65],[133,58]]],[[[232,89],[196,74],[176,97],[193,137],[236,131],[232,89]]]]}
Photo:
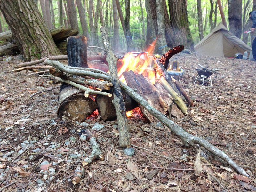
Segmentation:
{"type": "Polygon", "coordinates": [[[248,51],[249,55],[252,48],[229,32],[222,23],[219,23],[195,46],[195,50],[200,54],[212,57],[233,57],[236,53],[244,54],[245,51],[248,51]]]}

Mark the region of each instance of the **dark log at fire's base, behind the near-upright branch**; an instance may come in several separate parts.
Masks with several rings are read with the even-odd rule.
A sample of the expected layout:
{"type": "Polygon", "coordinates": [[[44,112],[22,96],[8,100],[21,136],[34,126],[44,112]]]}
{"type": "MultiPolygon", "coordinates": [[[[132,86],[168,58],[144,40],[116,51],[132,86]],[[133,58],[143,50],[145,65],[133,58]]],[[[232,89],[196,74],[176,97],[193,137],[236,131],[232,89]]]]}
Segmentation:
{"type": "MultiPolygon", "coordinates": [[[[138,103],[122,91],[126,111],[138,107],[138,103]]],[[[97,95],[95,101],[98,105],[98,112],[103,121],[112,121],[116,119],[116,109],[112,103],[113,96],[97,95]]]]}

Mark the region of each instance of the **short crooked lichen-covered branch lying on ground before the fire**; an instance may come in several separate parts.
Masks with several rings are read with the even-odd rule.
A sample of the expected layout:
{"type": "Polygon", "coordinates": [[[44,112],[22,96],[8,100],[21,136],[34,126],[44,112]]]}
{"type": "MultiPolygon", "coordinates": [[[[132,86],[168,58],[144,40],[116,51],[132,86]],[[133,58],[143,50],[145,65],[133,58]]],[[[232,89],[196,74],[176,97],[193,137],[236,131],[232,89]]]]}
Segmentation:
{"type": "Polygon", "coordinates": [[[84,161],[82,162],[83,166],[86,166],[92,163],[92,161],[94,161],[95,159],[103,160],[102,152],[100,150],[100,145],[97,143],[96,137],[94,136],[93,132],[90,131],[89,129],[86,129],[85,133],[87,134],[87,137],[92,146],[92,153],[90,156],[84,159],[84,161]]]}

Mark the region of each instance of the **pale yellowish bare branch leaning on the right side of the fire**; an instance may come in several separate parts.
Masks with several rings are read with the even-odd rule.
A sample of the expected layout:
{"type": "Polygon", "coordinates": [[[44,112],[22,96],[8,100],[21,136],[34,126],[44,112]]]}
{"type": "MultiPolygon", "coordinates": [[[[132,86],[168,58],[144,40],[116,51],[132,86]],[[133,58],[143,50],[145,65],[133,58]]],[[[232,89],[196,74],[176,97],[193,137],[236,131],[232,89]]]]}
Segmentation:
{"type": "Polygon", "coordinates": [[[184,114],[184,115],[188,115],[188,108],[185,105],[185,103],[183,102],[183,100],[181,99],[181,97],[172,89],[172,87],[170,86],[170,84],[166,81],[166,79],[164,78],[164,76],[161,76],[158,79],[158,82],[164,87],[164,89],[166,89],[166,91],[168,91],[168,93],[172,96],[173,98],[173,103],[175,103],[177,105],[177,107],[180,109],[180,111],[184,114]]]}

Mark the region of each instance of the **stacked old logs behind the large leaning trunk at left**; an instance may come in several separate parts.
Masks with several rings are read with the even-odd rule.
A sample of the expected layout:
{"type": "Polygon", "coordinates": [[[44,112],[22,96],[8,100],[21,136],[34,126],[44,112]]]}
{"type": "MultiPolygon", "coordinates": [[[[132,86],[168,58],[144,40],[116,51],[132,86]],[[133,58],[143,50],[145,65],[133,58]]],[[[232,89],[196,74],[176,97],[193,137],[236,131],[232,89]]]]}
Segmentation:
{"type": "MultiPolygon", "coordinates": [[[[65,48],[67,42],[65,41],[69,36],[75,36],[78,34],[78,31],[73,28],[65,28],[63,25],[50,30],[53,41],[57,45],[57,47],[61,48],[61,52],[65,53],[65,48]],[[63,42],[65,41],[65,42],[63,42]],[[60,44],[60,42],[63,42],[60,44]]],[[[19,47],[16,41],[12,37],[11,31],[6,31],[4,33],[0,33],[0,56],[2,55],[14,55],[19,52],[19,47]]]]}

